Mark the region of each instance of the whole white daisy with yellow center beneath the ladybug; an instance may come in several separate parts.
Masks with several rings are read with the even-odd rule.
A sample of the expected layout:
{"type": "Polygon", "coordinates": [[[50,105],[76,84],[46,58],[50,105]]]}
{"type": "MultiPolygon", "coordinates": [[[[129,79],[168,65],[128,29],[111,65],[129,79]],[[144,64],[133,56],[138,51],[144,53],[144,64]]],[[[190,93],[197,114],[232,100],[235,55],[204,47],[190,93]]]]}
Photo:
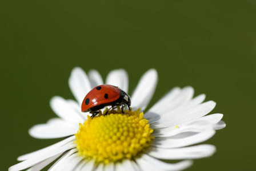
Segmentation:
{"type": "MultiPolygon", "coordinates": [[[[192,87],[175,87],[146,110],[157,82],[157,71],[147,71],[131,95],[131,111],[122,114],[118,108],[103,115],[102,110],[91,119],[89,113],[81,112],[81,103],[103,80],[96,70],[87,76],[81,68],[74,68],[69,86],[76,101],[53,97],[50,106],[58,117],[29,130],[37,139],[65,139],[18,157],[22,162],[9,170],[41,170],[55,160],[50,170],[183,170],[193,159],[213,155],[214,145],[195,144],[226,126],[222,114],[207,115],[215,102],[203,103],[204,94],[193,97],[192,87]]],[[[106,78],[106,84],[125,92],[128,83],[122,69],[111,71],[106,78]]]]}

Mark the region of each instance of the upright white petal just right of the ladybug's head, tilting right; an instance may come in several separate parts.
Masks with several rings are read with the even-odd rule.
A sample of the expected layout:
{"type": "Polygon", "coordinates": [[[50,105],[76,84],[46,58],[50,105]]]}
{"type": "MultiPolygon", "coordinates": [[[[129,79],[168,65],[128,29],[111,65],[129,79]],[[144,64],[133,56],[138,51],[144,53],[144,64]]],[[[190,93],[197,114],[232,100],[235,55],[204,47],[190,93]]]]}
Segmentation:
{"type": "Polygon", "coordinates": [[[131,96],[131,107],[133,110],[141,108],[144,111],[154,95],[157,87],[158,75],[155,69],[147,71],[139,80],[133,95],[131,96]]]}

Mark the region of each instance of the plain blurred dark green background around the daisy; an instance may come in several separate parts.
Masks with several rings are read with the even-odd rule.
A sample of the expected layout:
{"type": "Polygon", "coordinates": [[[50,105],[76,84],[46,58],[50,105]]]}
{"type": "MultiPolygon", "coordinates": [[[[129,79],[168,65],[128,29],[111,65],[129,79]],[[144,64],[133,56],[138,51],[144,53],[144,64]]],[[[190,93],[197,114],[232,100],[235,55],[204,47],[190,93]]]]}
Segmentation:
{"type": "Polygon", "coordinates": [[[27,131],[55,117],[51,97],[74,99],[75,66],[103,78],[125,68],[129,93],[156,68],[150,106],[174,86],[206,93],[227,127],[206,141],[217,153],[187,170],[256,170],[255,1],[0,1],[0,14],[0,170],[59,141],[27,131]]]}

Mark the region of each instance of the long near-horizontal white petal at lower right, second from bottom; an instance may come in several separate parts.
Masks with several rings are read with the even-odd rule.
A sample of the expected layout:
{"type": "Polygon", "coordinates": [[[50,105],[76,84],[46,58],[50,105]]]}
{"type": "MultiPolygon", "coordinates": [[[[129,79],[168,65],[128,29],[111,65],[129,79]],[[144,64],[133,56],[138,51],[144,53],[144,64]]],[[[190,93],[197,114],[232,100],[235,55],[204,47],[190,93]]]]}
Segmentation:
{"type": "Polygon", "coordinates": [[[209,157],[215,151],[214,145],[203,144],[176,149],[156,148],[147,154],[163,160],[183,160],[209,157]]]}

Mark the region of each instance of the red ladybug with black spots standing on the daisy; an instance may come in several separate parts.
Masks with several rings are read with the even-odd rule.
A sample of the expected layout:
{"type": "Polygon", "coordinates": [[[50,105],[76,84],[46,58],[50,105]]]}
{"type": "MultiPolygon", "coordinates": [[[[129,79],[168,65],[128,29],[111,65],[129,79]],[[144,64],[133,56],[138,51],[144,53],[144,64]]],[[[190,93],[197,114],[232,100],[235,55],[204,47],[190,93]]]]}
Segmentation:
{"type": "Polygon", "coordinates": [[[111,105],[111,107],[107,112],[109,112],[110,109],[116,108],[118,105],[122,105],[122,113],[125,113],[123,112],[125,104],[128,106],[129,110],[131,110],[131,98],[125,91],[116,86],[103,84],[94,87],[89,93],[87,93],[85,99],[83,99],[81,111],[90,112],[93,114],[91,115],[93,118],[99,113],[100,109],[108,105],[111,105]]]}

